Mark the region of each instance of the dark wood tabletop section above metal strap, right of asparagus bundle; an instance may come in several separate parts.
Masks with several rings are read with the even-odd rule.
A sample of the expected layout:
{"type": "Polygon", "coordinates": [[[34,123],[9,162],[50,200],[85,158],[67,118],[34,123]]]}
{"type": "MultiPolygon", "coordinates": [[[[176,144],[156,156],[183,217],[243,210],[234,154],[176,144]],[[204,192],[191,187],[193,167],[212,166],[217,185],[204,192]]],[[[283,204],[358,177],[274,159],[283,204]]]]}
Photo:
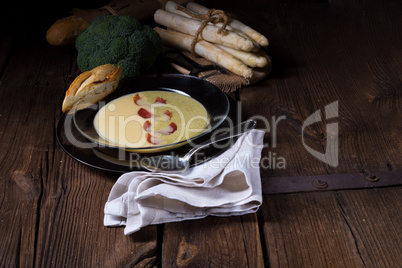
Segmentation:
{"type": "MultiPolygon", "coordinates": [[[[387,2],[388,3],[388,2],[387,2]]],[[[286,169],[265,168],[263,175],[320,175],[387,171],[402,166],[400,84],[402,55],[400,3],[271,5],[260,16],[241,18],[270,39],[270,77],[240,91],[245,117],[285,116],[277,125],[276,154],[286,169]],[[364,10],[364,12],[363,12],[364,10]],[[263,18],[261,20],[260,18],[263,18]],[[384,29],[384,30],[382,30],[384,29]],[[339,102],[339,116],[306,128],[306,144],[325,151],[326,124],[339,124],[339,166],[314,158],[302,144],[302,124],[325,105],[339,102]]],[[[237,11],[238,9],[236,9],[237,11]]],[[[258,11],[255,11],[259,14],[258,11]]],[[[325,114],[323,113],[324,119],[325,114]]],[[[260,126],[264,127],[261,121],[260,126]]],[[[272,123],[271,123],[272,128],[272,123]]]]}

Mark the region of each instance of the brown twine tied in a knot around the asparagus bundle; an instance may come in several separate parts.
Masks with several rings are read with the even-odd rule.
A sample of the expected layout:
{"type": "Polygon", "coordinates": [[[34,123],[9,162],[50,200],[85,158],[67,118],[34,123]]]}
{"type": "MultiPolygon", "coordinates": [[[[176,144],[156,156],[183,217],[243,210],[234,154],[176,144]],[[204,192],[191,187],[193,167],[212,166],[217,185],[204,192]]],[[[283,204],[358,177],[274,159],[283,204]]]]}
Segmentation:
{"type": "Polygon", "coordinates": [[[218,30],[218,33],[223,33],[228,24],[228,17],[223,10],[212,8],[208,10],[208,12],[205,14],[196,14],[186,9],[185,7],[179,5],[177,5],[175,8],[179,11],[186,13],[192,18],[203,20],[200,27],[198,27],[197,31],[195,32],[194,39],[191,42],[191,50],[190,50],[191,55],[195,57],[197,57],[197,54],[195,53],[195,46],[198,42],[198,37],[201,34],[202,30],[204,30],[204,28],[208,25],[208,23],[210,22],[213,24],[222,23],[222,27],[218,30]]]}

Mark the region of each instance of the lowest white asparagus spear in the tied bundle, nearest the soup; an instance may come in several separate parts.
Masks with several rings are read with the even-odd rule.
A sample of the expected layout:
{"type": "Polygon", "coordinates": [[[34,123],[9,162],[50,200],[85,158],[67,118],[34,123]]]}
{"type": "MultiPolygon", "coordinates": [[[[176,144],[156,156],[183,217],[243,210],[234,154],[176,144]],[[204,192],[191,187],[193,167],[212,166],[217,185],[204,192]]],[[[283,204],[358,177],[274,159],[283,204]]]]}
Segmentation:
{"type": "MultiPolygon", "coordinates": [[[[159,27],[155,27],[154,30],[159,34],[164,45],[180,50],[191,50],[193,36],[159,27]]],[[[207,41],[198,41],[195,45],[195,53],[237,75],[245,78],[251,78],[253,75],[252,69],[247,67],[247,65],[207,41]]]]}

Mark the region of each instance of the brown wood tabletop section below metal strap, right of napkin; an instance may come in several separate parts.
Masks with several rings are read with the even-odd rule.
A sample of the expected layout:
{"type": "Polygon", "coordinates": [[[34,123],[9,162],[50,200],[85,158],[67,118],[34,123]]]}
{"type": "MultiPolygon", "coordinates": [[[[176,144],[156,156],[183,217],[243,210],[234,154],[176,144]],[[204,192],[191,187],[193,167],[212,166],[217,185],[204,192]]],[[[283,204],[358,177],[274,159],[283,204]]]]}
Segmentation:
{"type": "Polygon", "coordinates": [[[265,196],[270,267],[397,267],[400,188],[265,196]]]}

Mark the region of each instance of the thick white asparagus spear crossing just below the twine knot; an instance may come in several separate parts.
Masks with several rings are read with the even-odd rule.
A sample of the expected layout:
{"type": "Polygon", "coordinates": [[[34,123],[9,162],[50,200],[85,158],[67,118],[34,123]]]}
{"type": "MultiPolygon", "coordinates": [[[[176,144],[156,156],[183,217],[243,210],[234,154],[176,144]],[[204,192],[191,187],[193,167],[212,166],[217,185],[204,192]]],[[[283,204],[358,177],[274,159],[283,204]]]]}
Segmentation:
{"type": "MultiPolygon", "coordinates": [[[[202,24],[202,22],[199,20],[189,19],[162,9],[158,9],[155,12],[154,20],[156,23],[167,28],[193,36],[196,34],[198,28],[202,24]]],[[[220,33],[220,28],[214,25],[206,25],[200,36],[206,41],[224,44],[239,50],[255,50],[255,45],[251,40],[245,39],[240,35],[228,30],[220,33]]]]}

